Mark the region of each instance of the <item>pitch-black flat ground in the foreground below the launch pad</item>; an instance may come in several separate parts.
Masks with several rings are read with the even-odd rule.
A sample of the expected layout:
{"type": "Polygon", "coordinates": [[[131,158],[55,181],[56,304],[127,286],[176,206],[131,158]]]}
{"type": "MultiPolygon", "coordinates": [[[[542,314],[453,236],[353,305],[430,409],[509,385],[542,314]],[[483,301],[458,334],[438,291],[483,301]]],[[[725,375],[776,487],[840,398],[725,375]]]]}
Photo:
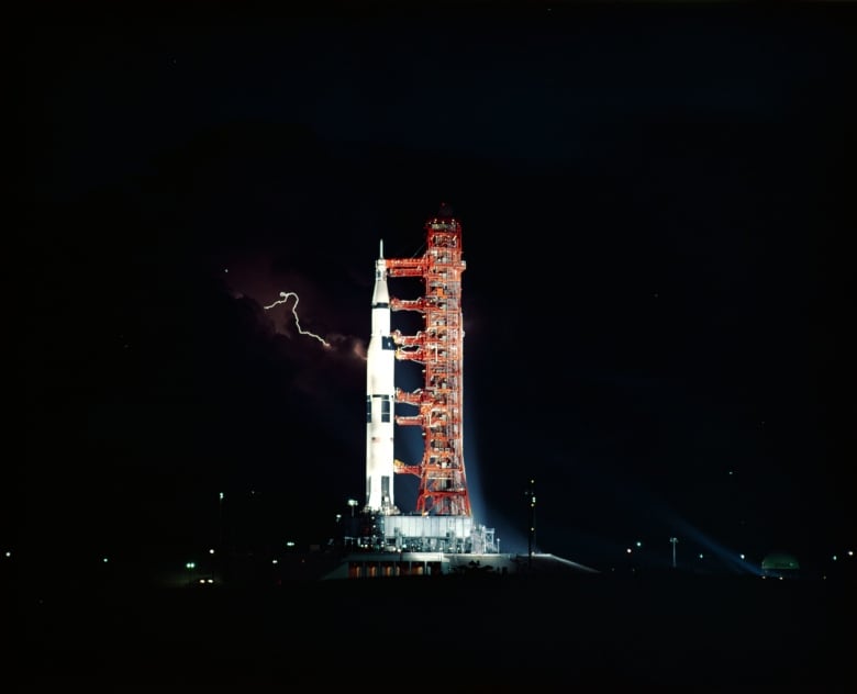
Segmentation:
{"type": "Polygon", "coordinates": [[[844,581],[468,575],[15,595],[21,692],[853,691],[844,581]]]}

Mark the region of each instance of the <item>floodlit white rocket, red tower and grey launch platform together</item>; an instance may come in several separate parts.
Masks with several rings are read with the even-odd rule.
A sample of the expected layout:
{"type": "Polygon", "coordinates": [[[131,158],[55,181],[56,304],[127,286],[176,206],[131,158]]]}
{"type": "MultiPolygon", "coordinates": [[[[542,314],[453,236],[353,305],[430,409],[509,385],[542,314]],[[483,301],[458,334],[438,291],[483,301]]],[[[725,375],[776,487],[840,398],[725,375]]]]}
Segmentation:
{"type": "MultiPolygon", "coordinates": [[[[383,242],[375,262],[371,334],[366,365],[366,503],[346,544],[356,551],[497,553],[494,530],[474,520],[464,463],[464,318],[461,225],[443,204],[424,224],[425,253],[386,258],[383,242]],[[416,299],[391,296],[388,278],[422,280],[416,299]],[[422,329],[392,329],[391,314],[421,314],[422,329]],[[397,362],[420,366],[423,385],[396,387],[397,362]],[[416,408],[403,415],[398,406],[416,408]],[[422,459],[408,463],[393,455],[396,426],[422,429],[422,459]],[[397,474],[419,478],[416,507],[396,505],[397,474]]],[[[361,562],[361,559],[357,560],[361,562]]],[[[363,575],[363,571],[348,572],[363,575]]]]}

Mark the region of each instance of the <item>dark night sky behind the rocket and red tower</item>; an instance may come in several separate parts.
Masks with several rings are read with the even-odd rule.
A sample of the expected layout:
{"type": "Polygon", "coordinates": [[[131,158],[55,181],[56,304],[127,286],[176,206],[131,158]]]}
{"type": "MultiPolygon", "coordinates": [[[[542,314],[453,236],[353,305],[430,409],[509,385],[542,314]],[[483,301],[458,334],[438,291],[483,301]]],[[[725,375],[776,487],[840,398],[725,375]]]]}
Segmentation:
{"type": "Polygon", "coordinates": [[[4,546],[324,542],[364,500],[379,242],[420,255],[446,202],[501,550],[531,478],[537,548],[597,568],[854,548],[853,4],[178,4],[15,32],[4,546]]]}

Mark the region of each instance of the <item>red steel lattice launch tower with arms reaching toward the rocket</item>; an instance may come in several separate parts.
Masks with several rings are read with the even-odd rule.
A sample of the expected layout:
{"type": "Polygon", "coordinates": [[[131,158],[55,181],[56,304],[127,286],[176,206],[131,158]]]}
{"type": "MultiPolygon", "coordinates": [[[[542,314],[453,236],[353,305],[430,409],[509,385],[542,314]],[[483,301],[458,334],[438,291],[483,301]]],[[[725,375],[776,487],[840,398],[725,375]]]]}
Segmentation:
{"type": "Polygon", "coordinates": [[[422,365],[424,387],[413,392],[396,389],[396,402],[418,413],[396,416],[402,426],[420,426],[423,458],[419,464],[396,461],[397,473],[420,478],[416,511],[423,515],[470,516],[465,474],[461,407],[464,322],[461,317],[461,225],[447,205],[429,219],[425,254],[419,258],[386,259],[390,277],[422,278],[419,299],[390,298],[392,311],[416,311],[423,329],[415,335],[393,331],[396,358],[422,365]]]}

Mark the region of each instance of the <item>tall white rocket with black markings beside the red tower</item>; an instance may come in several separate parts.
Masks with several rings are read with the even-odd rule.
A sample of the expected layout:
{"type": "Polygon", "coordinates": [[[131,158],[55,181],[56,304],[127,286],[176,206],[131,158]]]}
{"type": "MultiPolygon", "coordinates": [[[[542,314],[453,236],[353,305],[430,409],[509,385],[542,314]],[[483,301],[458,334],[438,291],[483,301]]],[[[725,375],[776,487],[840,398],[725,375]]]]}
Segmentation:
{"type": "Polygon", "coordinates": [[[366,511],[396,513],[393,416],[396,346],[390,337],[390,293],[383,242],[375,262],[372,321],[366,368],[366,511]]]}

